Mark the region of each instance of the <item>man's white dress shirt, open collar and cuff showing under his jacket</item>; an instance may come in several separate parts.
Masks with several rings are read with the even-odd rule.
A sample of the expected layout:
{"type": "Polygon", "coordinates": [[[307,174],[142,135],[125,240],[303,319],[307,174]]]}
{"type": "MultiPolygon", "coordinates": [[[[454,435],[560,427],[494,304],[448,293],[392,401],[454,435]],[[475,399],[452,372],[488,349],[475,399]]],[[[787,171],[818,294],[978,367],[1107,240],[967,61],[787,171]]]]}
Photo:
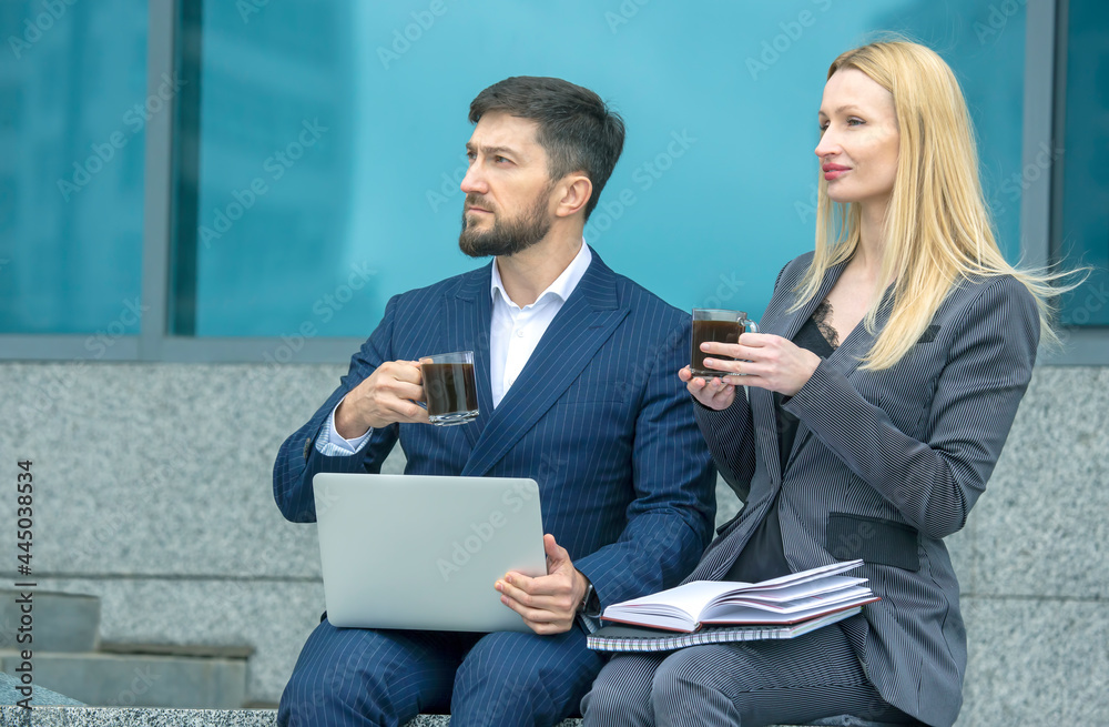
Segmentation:
{"type": "MultiPolygon", "coordinates": [[[[573,256],[554,282],[540,293],[536,302],[520,307],[513,303],[500,279],[497,262],[492,264],[492,280],[489,284],[489,295],[492,296],[492,319],[489,325],[489,383],[492,388],[494,408],[500,405],[505,394],[512,387],[523,366],[535,352],[547,327],[570,293],[578,286],[586,269],[592,262],[593,254],[589,245],[581,241],[581,249],[573,256]]],[[[342,401],[339,402],[342,404],[342,401]]],[[[327,417],[327,426],[316,437],[316,450],[328,456],[345,456],[362,450],[374,430],[366,432],[356,440],[345,440],[335,431],[335,411],[327,417]]]]}

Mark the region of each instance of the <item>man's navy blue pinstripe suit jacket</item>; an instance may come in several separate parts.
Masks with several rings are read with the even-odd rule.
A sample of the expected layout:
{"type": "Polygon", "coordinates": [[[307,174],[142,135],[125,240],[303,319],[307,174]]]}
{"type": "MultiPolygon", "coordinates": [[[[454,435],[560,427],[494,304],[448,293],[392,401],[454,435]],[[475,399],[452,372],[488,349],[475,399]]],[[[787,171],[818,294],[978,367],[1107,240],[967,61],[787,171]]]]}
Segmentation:
{"type": "Polygon", "coordinates": [[[282,445],[274,497],[314,522],[317,472],[380,471],[397,440],[408,474],[532,477],[546,532],[601,605],[678,584],[709,543],[715,469],[678,371],[690,316],[593,252],[516,383],[494,410],[489,377],[492,265],[393,297],[335,393],[282,445]],[[315,440],[336,403],[386,361],[472,350],[480,415],[450,427],[375,430],[353,456],[315,440]]]}

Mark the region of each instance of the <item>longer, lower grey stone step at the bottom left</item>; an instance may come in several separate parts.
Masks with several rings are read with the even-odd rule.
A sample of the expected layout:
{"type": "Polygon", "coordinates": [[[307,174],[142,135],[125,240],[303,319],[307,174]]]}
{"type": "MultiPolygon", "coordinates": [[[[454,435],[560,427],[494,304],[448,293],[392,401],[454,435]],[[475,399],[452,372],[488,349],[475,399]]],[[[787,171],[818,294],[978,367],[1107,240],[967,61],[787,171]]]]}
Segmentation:
{"type": "MultiPolygon", "coordinates": [[[[19,664],[18,654],[0,652],[0,672],[16,674],[19,664]]],[[[243,658],[35,649],[32,664],[35,685],[91,706],[237,709],[246,700],[243,658]]]]}

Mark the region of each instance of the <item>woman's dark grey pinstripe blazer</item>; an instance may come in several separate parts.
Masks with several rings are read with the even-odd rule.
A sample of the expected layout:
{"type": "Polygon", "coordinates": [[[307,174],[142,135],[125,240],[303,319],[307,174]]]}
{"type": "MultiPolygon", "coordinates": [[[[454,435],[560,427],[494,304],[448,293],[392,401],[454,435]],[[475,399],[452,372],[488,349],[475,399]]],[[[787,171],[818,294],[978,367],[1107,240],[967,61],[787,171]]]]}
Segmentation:
{"type": "MultiPolygon", "coordinates": [[[[764,332],[792,339],[838,279],[842,265],[808,304],[787,313],[811,260],[802,255],[779,275],[764,332]]],[[[800,425],[784,472],[770,392],[751,388],[750,404],[740,396],[723,412],[699,406],[713,457],[746,504],[689,579],[723,577],[781,489],[794,571],[865,561],[857,575],[882,600],[843,627],[883,698],[929,725],[953,724],[966,630],[943,538],[966,524],[986,487],[1038,340],[1035,299],[1010,276],[957,284],[912,353],[886,371],[858,367],[874,341],[858,325],[786,400],[800,425]]]]}

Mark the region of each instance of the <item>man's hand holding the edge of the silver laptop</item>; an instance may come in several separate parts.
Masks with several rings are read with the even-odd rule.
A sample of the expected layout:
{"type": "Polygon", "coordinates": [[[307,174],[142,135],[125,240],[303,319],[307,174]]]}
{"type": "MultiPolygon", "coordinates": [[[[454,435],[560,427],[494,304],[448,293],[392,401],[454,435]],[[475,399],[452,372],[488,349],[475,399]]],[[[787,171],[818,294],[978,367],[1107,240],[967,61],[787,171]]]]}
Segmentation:
{"type": "Polygon", "coordinates": [[[537,634],[561,634],[573,626],[589,580],[581,575],[553,535],[543,536],[547,575],[536,578],[510,571],[497,582],[500,602],[520,614],[537,634]]]}

